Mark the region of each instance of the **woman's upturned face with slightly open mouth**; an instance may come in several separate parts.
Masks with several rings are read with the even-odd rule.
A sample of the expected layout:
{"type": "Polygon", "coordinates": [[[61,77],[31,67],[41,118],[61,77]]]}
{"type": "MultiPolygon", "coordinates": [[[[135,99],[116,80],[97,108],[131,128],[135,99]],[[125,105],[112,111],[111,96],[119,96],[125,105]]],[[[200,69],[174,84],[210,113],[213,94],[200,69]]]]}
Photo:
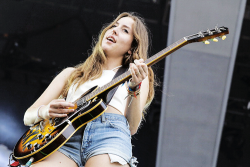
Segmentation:
{"type": "Polygon", "coordinates": [[[132,18],[123,17],[106,31],[102,39],[102,49],[107,57],[123,57],[130,50],[134,39],[133,26],[132,18]]]}

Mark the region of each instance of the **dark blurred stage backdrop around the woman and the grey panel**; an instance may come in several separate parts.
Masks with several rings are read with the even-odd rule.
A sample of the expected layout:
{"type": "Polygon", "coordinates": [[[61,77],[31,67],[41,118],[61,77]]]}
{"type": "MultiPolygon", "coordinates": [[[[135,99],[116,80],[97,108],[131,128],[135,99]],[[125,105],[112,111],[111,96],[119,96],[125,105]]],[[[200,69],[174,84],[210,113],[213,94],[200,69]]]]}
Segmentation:
{"type": "MultiPolygon", "coordinates": [[[[88,57],[93,39],[105,23],[122,12],[139,13],[151,31],[150,55],[154,55],[167,46],[171,4],[171,0],[0,0],[0,166],[7,166],[9,154],[28,128],[23,125],[26,109],[62,69],[88,57]]],[[[250,163],[249,24],[248,0],[237,37],[218,167],[247,167],[250,163]]],[[[193,33],[196,30],[186,35],[193,33]]],[[[165,67],[164,60],[153,66],[159,86],[146,121],[132,137],[139,167],[156,166],[165,67]]]]}

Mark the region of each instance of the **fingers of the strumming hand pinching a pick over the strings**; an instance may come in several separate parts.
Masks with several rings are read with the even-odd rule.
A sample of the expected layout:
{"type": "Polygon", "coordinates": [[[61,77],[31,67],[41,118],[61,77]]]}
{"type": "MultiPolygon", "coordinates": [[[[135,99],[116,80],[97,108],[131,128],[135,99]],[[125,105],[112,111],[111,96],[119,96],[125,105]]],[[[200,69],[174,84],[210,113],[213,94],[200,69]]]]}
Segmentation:
{"type": "Polygon", "coordinates": [[[64,99],[52,100],[49,104],[49,116],[50,117],[66,117],[67,114],[74,112],[74,104],[66,102],[64,99]]]}

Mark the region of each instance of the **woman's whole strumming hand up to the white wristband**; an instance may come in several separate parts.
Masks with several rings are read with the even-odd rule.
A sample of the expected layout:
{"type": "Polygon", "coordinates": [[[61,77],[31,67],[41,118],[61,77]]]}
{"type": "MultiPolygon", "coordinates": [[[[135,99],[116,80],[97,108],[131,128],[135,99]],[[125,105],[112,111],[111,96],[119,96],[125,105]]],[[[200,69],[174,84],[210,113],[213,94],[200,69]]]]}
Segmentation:
{"type": "Polygon", "coordinates": [[[67,114],[74,112],[72,107],[74,107],[73,103],[66,102],[64,99],[55,99],[39,110],[39,116],[44,119],[66,117],[67,114]]]}

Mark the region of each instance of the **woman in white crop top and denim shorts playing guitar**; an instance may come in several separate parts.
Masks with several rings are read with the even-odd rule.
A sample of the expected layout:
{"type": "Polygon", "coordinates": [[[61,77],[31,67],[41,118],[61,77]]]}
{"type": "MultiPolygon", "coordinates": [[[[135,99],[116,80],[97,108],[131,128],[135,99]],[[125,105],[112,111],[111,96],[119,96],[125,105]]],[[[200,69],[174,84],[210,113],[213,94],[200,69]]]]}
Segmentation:
{"type": "Polygon", "coordinates": [[[137,132],[143,111],[154,96],[154,74],[143,63],[147,52],[148,32],[140,17],[122,13],[105,27],[90,57],[75,68],[64,69],[26,111],[25,125],[74,112],[69,109],[72,102],[90,87],[110,82],[121,65],[129,67],[132,78],[119,86],[103,115],[33,166],[135,166],[131,135],[137,132]]]}

